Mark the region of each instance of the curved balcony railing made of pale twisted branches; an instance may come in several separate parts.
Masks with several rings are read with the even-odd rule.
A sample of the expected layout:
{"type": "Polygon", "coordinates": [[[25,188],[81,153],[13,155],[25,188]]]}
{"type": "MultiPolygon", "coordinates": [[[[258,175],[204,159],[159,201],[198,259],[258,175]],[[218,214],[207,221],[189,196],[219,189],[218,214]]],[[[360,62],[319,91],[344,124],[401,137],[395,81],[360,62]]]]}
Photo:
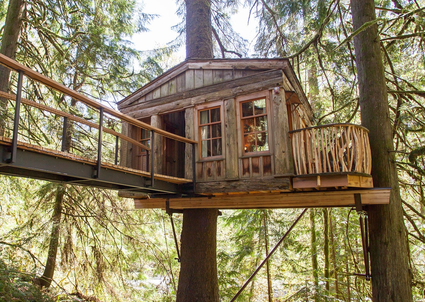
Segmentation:
{"type": "Polygon", "coordinates": [[[370,174],[368,129],[355,124],[327,124],[289,131],[297,175],[357,172],[370,174]]]}

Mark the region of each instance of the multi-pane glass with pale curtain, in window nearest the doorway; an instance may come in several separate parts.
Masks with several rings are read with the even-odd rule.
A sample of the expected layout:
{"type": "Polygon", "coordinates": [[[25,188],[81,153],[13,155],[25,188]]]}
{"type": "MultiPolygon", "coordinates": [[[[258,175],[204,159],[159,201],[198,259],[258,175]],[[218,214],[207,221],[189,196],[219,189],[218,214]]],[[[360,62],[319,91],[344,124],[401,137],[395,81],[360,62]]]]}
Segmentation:
{"type": "Polygon", "coordinates": [[[222,155],[220,108],[215,107],[198,111],[201,158],[222,155]]]}

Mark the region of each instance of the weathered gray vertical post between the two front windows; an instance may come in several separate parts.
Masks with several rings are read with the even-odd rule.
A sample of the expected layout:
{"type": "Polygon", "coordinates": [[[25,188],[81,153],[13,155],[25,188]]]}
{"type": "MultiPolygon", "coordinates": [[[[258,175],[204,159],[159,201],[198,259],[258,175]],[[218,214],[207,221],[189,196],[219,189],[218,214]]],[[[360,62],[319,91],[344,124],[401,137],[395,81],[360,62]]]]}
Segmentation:
{"type": "Polygon", "coordinates": [[[238,178],[238,133],[234,98],[224,101],[224,139],[226,178],[238,178]]]}

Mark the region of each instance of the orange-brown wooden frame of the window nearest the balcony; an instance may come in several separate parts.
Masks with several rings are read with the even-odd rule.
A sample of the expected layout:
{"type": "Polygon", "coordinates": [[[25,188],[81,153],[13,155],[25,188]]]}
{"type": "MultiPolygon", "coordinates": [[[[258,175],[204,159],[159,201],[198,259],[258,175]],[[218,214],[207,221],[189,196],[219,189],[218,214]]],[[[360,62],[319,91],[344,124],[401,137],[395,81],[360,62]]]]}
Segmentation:
{"type": "MultiPolygon", "coordinates": [[[[237,125],[238,125],[238,137],[239,137],[239,142],[240,142],[240,147],[239,147],[239,156],[240,157],[252,157],[252,156],[256,156],[256,155],[260,155],[260,154],[273,154],[273,146],[272,146],[272,142],[273,142],[273,138],[272,138],[272,129],[270,128],[271,125],[271,115],[270,115],[270,111],[272,110],[271,104],[270,104],[270,91],[261,91],[259,93],[255,93],[255,94],[247,94],[241,97],[237,97],[236,98],[236,108],[237,108],[237,114],[236,114],[236,118],[238,119],[237,121],[237,125]],[[242,117],[242,104],[243,103],[248,103],[248,102],[253,102],[255,100],[261,100],[261,99],[265,99],[265,104],[266,104],[266,113],[265,114],[254,114],[251,115],[249,117],[254,118],[255,117],[259,117],[259,116],[265,116],[267,118],[267,130],[266,131],[255,131],[253,133],[257,134],[257,133],[262,133],[265,132],[267,133],[267,137],[268,137],[268,142],[269,142],[269,150],[264,150],[264,151],[252,151],[252,152],[245,152],[245,140],[244,140],[244,124],[243,124],[243,120],[246,120],[249,117],[242,117]]],[[[255,139],[257,141],[257,138],[255,139]]]]}

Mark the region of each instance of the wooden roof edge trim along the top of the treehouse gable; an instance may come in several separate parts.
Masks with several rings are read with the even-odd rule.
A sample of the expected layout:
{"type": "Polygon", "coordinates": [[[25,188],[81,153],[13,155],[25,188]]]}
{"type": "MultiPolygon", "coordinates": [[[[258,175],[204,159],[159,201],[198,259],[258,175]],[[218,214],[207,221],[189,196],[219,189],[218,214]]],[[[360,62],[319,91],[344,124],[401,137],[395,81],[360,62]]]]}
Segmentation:
{"type": "Polygon", "coordinates": [[[259,72],[271,69],[281,69],[295,89],[301,103],[309,110],[309,117],[312,119],[311,106],[297,79],[295,72],[289,63],[288,58],[244,58],[244,59],[187,59],[176,66],[165,71],[159,77],[142,86],[132,94],[118,102],[118,108],[126,107],[139,100],[145,94],[153,91],[168,80],[173,79],[188,69],[245,69],[258,70],[259,72]]]}

